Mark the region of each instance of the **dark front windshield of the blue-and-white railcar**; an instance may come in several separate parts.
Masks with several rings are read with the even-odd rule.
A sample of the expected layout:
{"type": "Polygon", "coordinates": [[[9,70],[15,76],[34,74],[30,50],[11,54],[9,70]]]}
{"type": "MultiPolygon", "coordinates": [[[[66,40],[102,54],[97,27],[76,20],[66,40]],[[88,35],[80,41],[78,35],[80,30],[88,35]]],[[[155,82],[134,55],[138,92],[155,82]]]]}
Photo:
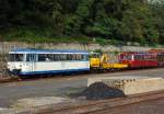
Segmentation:
{"type": "Polygon", "coordinates": [[[9,61],[24,61],[24,54],[9,54],[9,61]]]}

